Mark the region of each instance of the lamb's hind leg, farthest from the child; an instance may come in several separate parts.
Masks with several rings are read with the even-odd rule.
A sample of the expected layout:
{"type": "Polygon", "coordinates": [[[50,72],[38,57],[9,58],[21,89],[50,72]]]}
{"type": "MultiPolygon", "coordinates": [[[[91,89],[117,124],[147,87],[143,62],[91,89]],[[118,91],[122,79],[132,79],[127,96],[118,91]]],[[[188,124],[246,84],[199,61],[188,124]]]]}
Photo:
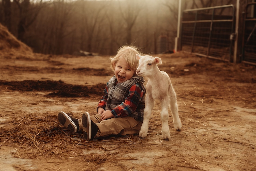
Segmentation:
{"type": "Polygon", "coordinates": [[[176,131],[181,131],[182,124],[178,113],[178,105],[176,100],[176,94],[174,91],[170,99],[170,108],[172,112],[174,128],[176,129],[176,131]]]}

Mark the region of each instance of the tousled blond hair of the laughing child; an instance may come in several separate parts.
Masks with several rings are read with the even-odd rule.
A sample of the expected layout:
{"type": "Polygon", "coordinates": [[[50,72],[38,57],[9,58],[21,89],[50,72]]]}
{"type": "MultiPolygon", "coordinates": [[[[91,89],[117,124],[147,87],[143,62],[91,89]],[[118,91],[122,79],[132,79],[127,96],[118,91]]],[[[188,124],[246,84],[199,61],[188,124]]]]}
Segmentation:
{"type": "Polygon", "coordinates": [[[141,52],[139,51],[138,48],[134,47],[134,46],[122,46],[118,49],[117,54],[112,58],[110,57],[110,64],[111,64],[111,69],[112,71],[115,70],[115,66],[117,61],[119,61],[119,59],[121,57],[125,58],[125,61],[127,62],[128,66],[130,69],[134,70],[135,74],[136,74],[136,69],[139,66],[139,61],[136,59],[136,55],[140,55],[141,52]]]}

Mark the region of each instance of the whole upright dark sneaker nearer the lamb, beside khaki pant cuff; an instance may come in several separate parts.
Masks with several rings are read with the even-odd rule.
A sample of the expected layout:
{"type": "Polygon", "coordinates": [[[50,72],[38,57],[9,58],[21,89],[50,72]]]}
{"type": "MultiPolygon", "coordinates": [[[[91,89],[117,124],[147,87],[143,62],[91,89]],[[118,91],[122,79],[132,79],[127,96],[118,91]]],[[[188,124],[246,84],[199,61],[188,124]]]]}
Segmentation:
{"type": "Polygon", "coordinates": [[[82,125],[84,139],[87,141],[93,139],[98,132],[98,126],[96,123],[91,121],[90,114],[88,112],[85,112],[82,116],[82,125]]]}

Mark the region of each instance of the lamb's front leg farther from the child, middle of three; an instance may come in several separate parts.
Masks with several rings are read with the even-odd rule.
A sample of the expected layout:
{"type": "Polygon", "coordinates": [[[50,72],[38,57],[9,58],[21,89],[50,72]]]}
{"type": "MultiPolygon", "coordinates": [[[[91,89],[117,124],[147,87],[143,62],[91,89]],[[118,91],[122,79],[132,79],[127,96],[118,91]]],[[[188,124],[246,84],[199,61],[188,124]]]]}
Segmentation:
{"type": "Polygon", "coordinates": [[[169,106],[169,98],[166,97],[165,99],[161,100],[161,120],[162,120],[162,134],[163,139],[169,140],[170,139],[170,130],[169,130],[169,114],[168,114],[168,106],[169,106]]]}

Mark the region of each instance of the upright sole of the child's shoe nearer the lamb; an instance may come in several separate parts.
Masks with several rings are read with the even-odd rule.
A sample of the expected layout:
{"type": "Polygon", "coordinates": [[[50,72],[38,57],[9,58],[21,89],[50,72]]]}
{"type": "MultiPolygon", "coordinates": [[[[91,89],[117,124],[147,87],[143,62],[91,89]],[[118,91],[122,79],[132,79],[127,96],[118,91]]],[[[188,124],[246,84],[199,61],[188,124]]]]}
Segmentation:
{"type": "Polygon", "coordinates": [[[91,119],[90,114],[85,112],[82,116],[82,125],[83,125],[83,137],[87,141],[91,139],[91,119]]]}

